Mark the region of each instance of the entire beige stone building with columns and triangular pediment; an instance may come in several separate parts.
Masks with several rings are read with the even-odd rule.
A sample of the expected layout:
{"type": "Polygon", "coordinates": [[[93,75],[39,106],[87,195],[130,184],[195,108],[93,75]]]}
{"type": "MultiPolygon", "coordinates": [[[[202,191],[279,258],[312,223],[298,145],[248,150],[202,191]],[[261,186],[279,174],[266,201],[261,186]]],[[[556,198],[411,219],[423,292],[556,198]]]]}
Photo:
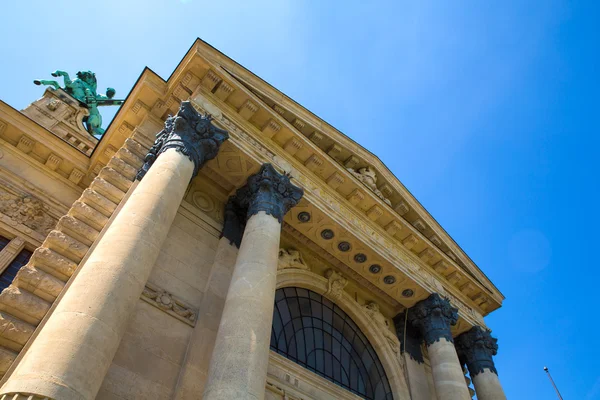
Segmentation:
{"type": "Polygon", "coordinates": [[[502,294],[325,121],[201,40],[89,114],[0,102],[0,398],[505,399],[502,294]]]}

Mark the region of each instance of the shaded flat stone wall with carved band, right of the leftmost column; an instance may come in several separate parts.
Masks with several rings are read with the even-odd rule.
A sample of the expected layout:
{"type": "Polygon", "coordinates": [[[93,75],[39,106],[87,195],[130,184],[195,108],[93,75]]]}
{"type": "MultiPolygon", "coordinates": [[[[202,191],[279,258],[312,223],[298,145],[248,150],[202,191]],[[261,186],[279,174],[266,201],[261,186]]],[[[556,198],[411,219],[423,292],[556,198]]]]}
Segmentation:
{"type": "Polygon", "coordinates": [[[97,399],[174,398],[218,242],[202,217],[180,207],[97,399]]]}

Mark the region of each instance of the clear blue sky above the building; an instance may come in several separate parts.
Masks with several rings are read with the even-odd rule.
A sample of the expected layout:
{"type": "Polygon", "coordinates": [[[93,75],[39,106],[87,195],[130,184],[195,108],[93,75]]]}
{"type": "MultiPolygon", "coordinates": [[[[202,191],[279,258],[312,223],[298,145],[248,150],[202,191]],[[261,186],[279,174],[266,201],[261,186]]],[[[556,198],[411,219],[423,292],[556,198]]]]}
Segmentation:
{"type": "MultiPolygon", "coordinates": [[[[93,70],[124,97],[201,37],[377,154],[506,296],[509,399],[600,399],[598,5],[11,1],[0,98],[93,70]]],[[[105,115],[109,113],[105,112],[105,115]]]]}

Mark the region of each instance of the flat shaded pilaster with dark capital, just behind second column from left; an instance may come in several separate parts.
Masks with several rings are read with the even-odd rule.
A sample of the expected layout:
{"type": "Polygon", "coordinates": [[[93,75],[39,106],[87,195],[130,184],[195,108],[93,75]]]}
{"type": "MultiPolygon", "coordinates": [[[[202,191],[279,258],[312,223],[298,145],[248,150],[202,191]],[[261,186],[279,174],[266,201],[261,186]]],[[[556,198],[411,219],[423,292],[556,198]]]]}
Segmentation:
{"type": "Polygon", "coordinates": [[[177,382],[176,400],[201,398],[206,384],[208,365],[246,223],[246,210],[238,207],[235,196],[227,201],[224,215],[223,231],[200,304],[200,315],[177,382]]]}

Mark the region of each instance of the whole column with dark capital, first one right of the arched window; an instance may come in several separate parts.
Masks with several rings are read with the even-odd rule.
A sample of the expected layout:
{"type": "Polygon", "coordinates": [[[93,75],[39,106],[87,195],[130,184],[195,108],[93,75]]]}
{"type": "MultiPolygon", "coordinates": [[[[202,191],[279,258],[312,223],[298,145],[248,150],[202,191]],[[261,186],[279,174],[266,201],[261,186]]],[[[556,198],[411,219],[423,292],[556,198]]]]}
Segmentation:
{"type": "Polygon", "coordinates": [[[427,345],[438,400],[470,400],[450,333],[450,326],[458,320],[458,310],[448,299],[434,293],[409,309],[408,320],[427,345]]]}

